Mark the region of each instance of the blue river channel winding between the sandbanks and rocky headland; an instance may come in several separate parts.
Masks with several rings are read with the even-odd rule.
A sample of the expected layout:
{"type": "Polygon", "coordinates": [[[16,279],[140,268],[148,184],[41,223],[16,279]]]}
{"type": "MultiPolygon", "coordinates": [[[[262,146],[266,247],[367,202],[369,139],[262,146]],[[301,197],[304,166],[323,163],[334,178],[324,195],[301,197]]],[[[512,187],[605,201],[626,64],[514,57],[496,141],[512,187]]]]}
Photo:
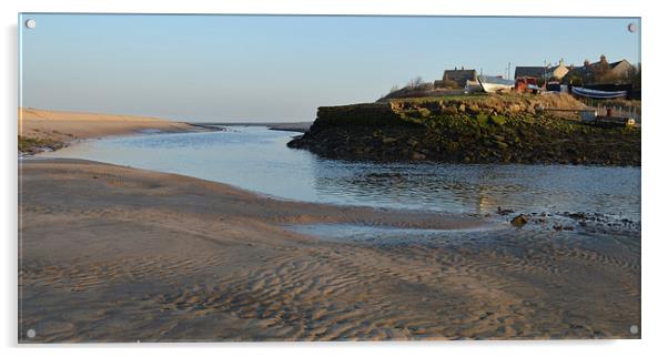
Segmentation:
{"type": "Polygon", "coordinates": [[[502,206],[640,221],[639,167],[345,162],[289,149],[297,134],[262,126],[142,133],[41,156],[178,173],[297,201],[477,214],[502,206]]]}

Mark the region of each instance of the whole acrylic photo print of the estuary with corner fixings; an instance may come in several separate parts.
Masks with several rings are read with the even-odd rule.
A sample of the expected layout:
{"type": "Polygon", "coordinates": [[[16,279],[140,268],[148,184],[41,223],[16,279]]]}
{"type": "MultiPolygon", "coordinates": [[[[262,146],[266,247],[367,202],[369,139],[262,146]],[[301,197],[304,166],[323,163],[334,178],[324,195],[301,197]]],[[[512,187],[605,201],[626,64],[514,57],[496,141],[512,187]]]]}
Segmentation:
{"type": "Polygon", "coordinates": [[[640,338],[640,24],[21,13],[19,341],[640,338]]]}

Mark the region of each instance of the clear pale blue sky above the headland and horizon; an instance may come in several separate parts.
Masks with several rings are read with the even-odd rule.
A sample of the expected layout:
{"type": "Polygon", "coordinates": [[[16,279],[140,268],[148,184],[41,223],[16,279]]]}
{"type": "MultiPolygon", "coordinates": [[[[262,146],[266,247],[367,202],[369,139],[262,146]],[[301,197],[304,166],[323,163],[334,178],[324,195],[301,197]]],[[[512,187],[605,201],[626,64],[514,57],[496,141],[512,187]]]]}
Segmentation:
{"type": "Polygon", "coordinates": [[[24,14],[22,105],[182,121],[311,121],[455,67],[640,61],[640,20],[24,14]]]}

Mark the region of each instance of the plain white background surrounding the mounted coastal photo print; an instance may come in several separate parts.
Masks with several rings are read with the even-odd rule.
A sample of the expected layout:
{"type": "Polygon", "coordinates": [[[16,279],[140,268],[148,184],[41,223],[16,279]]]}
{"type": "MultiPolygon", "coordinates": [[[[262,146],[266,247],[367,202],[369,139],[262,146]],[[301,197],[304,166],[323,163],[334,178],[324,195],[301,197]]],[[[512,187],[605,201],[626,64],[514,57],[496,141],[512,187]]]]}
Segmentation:
{"type": "Polygon", "coordinates": [[[90,353],[114,356],[119,353],[140,355],[159,353],[199,356],[262,353],[279,356],[320,356],[379,353],[385,356],[413,354],[454,356],[637,356],[655,354],[662,349],[668,334],[666,328],[665,280],[666,241],[661,225],[668,197],[665,190],[668,178],[664,163],[668,152],[664,145],[668,134],[666,108],[666,11],[659,1],[636,0],[3,0],[2,19],[2,227],[3,251],[0,258],[4,278],[0,313],[0,338],[3,356],[41,355],[84,356],[90,353]],[[644,125],[642,125],[642,340],[616,341],[480,341],[480,343],[338,343],[338,344],[160,344],[160,345],[78,345],[30,347],[17,341],[17,19],[18,12],[119,12],[119,13],[301,13],[301,14],[462,14],[462,16],[607,16],[641,17],[644,70],[644,125]],[[656,78],[656,80],[655,80],[656,78]],[[68,346],[70,347],[70,346],[68,346]],[[123,347],[123,350],[118,348],[123,347]],[[91,349],[92,348],[92,349],[91,349]],[[148,349],[146,349],[148,348],[148,349]],[[184,348],[195,348],[186,351],[184,348]]]}

